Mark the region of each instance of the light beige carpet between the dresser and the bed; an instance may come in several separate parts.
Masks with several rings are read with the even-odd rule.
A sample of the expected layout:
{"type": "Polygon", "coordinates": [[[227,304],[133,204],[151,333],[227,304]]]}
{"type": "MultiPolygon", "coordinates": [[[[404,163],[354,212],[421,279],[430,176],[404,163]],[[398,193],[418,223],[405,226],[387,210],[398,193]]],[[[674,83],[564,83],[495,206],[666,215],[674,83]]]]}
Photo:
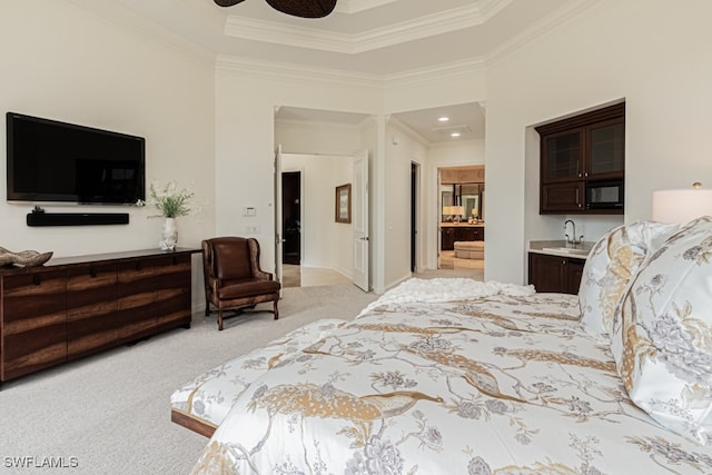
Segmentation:
{"type": "Polygon", "coordinates": [[[188,473],[208,439],[170,422],[169,397],[177,387],[309,321],[352,319],[376,297],[354,285],[286,288],[279,320],[249,315],[218,331],[215,316],[199,313],[188,330],[4,383],[0,474],[188,473]],[[46,457],[77,467],[17,466],[40,465],[46,457]]]}

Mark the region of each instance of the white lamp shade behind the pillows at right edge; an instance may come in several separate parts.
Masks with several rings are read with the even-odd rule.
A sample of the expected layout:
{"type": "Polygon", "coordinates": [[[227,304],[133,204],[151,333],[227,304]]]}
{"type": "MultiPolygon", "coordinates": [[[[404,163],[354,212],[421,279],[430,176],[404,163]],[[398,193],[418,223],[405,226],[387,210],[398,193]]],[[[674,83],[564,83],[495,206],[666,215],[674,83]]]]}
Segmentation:
{"type": "Polygon", "coordinates": [[[712,190],[675,189],[653,191],[653,220],[685,225],[712,215],[712,190]]]}

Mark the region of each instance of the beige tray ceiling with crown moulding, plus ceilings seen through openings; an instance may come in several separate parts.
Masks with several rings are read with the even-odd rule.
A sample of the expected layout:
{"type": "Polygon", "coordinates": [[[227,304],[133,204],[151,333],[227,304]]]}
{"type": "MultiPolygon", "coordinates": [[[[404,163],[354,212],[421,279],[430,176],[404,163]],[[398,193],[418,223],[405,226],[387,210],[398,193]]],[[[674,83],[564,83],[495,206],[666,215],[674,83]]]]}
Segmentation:
{"type": "MultiPolygon", "coordinates": [[[[289,17],[265,0],[222,8],[212,0],[68,0],[134,29],[161,34],[208,57],[318,68],[370,79],[444,66],[486,65],[595,0],[338,0],[323,19],[289,17]]],[[[284,109],[279,113],[295,113],[284,109]]],[[[322,111],[323,112],[323,111],[322,111]]],[[[320,120],[320,111],[298,111],[320,120]]],[[[325,112],[334,116],[333,112],[325,112]]],[[[476,103],[396,117],[428,141],[451,140],[435,121],[484,138],[476,103]]],[[[348,122],[354,118],[332,117],[348,122]]],[[[291,118],[294,119],[294,118],[291,118]]],[[[306,118],[304,120],[307,120],[306,118]]]]}

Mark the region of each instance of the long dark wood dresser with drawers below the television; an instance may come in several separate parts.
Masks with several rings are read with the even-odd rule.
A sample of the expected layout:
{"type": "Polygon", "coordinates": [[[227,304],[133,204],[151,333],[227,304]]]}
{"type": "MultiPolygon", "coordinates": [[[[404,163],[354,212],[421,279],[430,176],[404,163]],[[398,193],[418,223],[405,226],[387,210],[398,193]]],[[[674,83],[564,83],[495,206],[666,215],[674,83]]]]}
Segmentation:
{"type": "Polygon", "coordinates": [[[197,251],[139,250],[0,268],[0,380],[189,328],[197,251]]]}

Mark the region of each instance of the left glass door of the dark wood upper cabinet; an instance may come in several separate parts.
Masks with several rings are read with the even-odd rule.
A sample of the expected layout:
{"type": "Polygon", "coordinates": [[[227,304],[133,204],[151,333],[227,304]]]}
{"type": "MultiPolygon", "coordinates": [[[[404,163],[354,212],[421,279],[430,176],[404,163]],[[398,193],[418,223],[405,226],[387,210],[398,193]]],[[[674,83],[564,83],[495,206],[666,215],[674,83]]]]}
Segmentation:
{"type": "Polygon", "coordinates": [[[583,172],[583,129],[566,130],[545,138],[544,181],[571,180],[583,172]]]}

